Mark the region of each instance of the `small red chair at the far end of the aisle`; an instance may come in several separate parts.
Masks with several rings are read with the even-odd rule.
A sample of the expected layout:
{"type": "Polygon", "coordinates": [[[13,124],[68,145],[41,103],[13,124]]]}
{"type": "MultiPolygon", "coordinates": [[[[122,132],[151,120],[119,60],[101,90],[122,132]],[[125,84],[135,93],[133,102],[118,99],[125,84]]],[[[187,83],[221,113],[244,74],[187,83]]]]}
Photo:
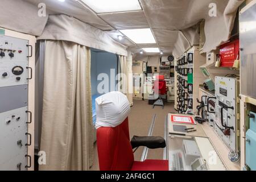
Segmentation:
{"type": "Polygon", "coordinates": [[[162,109],[164,108],[164,103],[162,100],[161,95],[166,95],[167,94],[167,89],[166,89],[166,81],[164,80],[164,76],[163,75],[158,75],[155,78],[155,82],[154,82],[154,86],[153,86],[153,90],[154,90],[154,94],[158,94],[158,100],[155,101],[153,108],[155,106],[162,106],[162,109]]]}

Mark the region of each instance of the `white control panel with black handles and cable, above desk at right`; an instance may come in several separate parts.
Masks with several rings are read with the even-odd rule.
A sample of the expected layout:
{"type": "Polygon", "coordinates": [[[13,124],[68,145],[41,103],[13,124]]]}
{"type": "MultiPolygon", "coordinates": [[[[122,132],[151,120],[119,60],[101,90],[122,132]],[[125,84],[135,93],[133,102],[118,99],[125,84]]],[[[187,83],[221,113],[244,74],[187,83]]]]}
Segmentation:
{"type": "Polygon", "coordinates": [[[215,77],[215,118],[217,135],[231,152],[239,152],[240,107],[238,102],[239,81],[231,77],[215,77]]]}

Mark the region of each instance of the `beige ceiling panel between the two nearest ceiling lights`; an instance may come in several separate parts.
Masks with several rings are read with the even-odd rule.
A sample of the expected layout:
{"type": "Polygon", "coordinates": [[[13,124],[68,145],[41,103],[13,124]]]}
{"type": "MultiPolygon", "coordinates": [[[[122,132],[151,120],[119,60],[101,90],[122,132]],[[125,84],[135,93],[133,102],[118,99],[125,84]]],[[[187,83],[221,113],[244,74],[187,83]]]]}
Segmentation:
{"type": "Polygon", "coordinates": [[[99,14],[105,22],[108,22],[117,30],[150,28],[143,11],[131,11],[123,13],[99,14]]]}

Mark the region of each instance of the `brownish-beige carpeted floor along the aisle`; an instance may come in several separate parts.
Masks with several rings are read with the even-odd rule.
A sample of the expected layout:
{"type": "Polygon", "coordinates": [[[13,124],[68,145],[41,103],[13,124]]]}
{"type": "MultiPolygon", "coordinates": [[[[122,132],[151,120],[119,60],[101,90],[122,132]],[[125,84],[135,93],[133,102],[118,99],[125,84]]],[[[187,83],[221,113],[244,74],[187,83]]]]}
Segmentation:
{"type": "MultiPolygon", "coordinates": [[[[160,106],[155,106],[155,109],[152,109],[152,105],[148,105],[147,101],[134,100],[133,107],[131,107],[131,113],[129,114],[130,138],[134,135],[147,136],[154,114],[156,114],[156,119],[153,136],[163,137],[164,119],[168,113],[174,111],[173,103],[166,102],[164,109],[160,106]]],[[[139,147],[134,154],[135,160],[141,160],[142,151],[143,147],[139,147]]],[[[147,159],[163,159],[163,149],[149,150],[147,159]]],[[[94,164],[90,170],[99,170],[96,144],[94,145],[94,164]]]]}

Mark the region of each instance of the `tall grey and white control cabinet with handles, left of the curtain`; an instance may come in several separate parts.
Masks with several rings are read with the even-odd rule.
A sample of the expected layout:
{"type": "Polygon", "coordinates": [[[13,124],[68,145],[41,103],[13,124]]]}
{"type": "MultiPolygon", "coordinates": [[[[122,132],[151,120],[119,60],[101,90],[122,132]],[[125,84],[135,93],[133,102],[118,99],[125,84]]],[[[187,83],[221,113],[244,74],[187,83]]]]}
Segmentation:
{"type": "Polygon", "coordinates": [[[0,170],[22,171],[31,166],[30,47],[29,40],[0,35],[0,170]]]}

